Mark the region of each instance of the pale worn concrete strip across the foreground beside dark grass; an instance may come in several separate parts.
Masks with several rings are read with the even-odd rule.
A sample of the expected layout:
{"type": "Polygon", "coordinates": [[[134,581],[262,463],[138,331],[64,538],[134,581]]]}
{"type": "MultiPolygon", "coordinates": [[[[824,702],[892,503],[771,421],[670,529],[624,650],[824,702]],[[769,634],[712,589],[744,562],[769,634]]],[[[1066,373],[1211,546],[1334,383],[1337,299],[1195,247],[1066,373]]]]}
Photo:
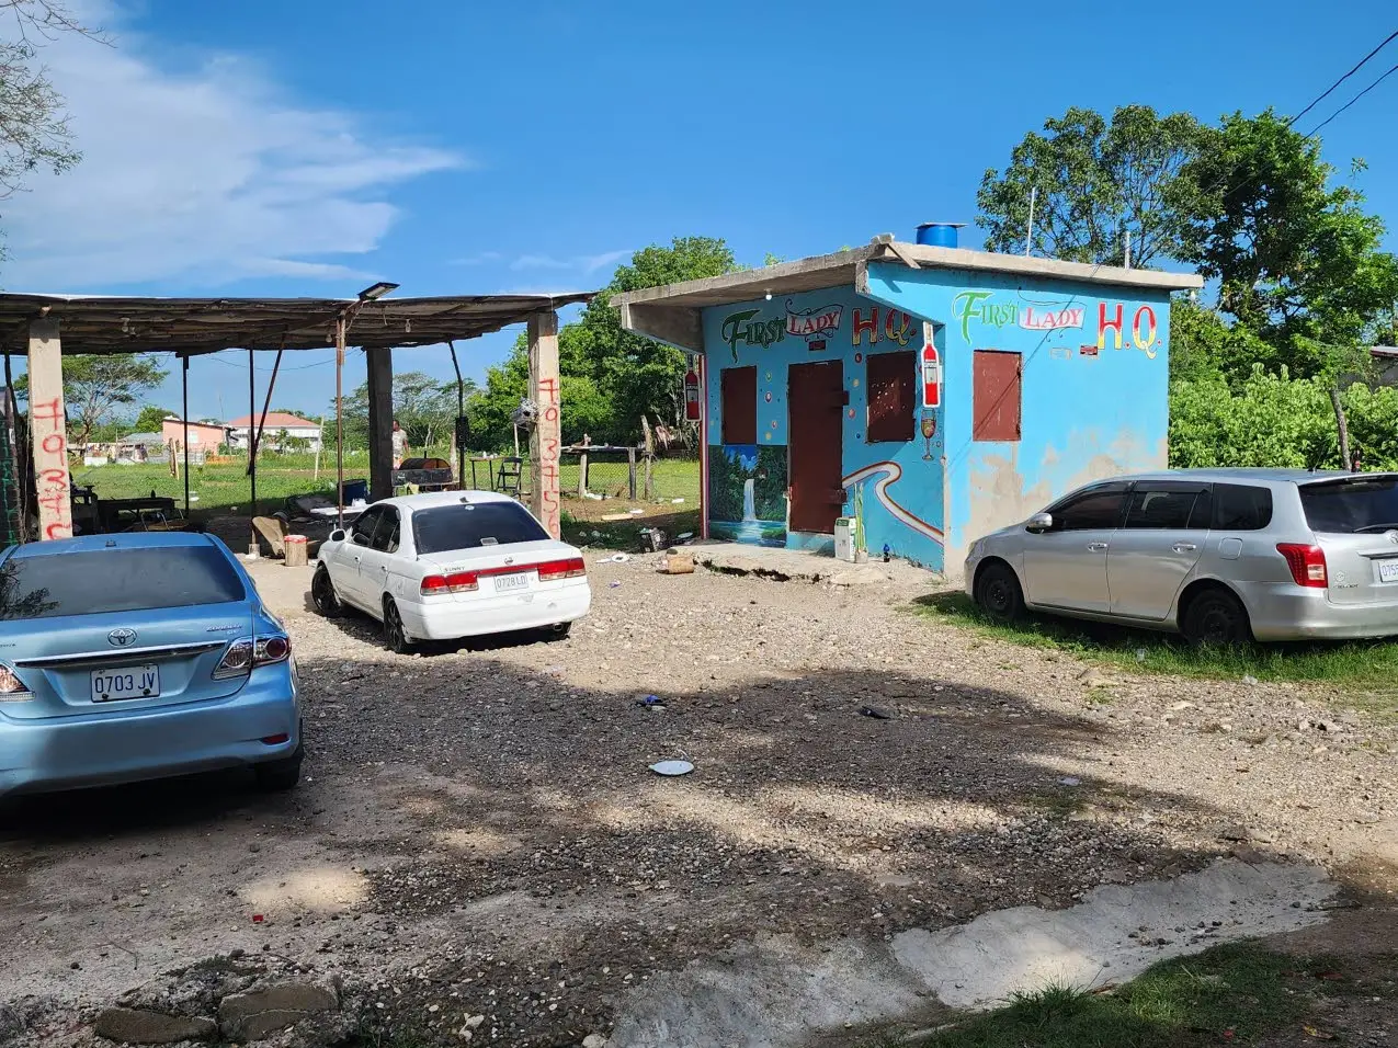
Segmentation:
{"type": "Polygon", "coordinates": [[[610,1048],[804,1048],[1050,982],[1124,982],[1215,943],[1318,924],[1334,891],[1317,866],[1225,859],[1174,880],[1103,886],[1068,910],[1000,910],[891,942],[779,936],[653,977],[619,1002],[610,1048]]]}

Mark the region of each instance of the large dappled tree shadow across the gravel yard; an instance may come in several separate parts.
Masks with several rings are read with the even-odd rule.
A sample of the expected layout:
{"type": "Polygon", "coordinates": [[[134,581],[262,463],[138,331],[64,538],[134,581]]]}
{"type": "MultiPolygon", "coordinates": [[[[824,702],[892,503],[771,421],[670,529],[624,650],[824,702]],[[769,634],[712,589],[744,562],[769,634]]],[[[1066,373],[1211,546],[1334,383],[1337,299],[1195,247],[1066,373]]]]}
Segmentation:
{"type": "MultiPolygon", "coordinates": [[[[340,627],[376,639],[368,619],[340,627]]],[[[246,852],[236,833],[211,833],[221,823],[274,820],[368,878],[361,912],[449,929],[450,947],[379,1021],[453,1042],[426,1009],[471,980],[495,989],[489,1021],[520,1047],[582,1040],[649,973],[754,938],[882,939],[1061,907],[1215,854],[1160,829],[1220,817],[1208,805],[1125,789],[1110,766],[1065,780],[1057,766],[1113,729],[1012,692],[892,671],[768,674],[663,694],[651,711],[625,671],[583,687],[566,681],[566,643],[537,651],[537,671],[489,651],[303,660],[315,783],[299,792],[260,796],[226,774],[29,798],[0,840],[41,859],[183,827],[210,837],[217,864],[219,848],[246,852]],[[664,759],[696,770],[657,777],[664,759]]],[[[308,953],[333,953],[341,933],[305,932],[308,953]]],[[[361,950],[341,970],[373,980],[382,963],[361,950]]]]}

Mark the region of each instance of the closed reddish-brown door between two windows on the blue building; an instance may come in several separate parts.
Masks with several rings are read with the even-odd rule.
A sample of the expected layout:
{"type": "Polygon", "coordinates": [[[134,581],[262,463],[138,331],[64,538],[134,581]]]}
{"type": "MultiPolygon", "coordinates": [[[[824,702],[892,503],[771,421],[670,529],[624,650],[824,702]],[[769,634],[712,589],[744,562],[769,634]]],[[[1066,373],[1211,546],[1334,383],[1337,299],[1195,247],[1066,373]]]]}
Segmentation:
{"type": "Polygon", "coordinates": [[[788,481],[791,531],[833,535],[844,506],[840,451],[844,418],[844,367],[795,363],[787,374],[790,414],[788,481]]]}

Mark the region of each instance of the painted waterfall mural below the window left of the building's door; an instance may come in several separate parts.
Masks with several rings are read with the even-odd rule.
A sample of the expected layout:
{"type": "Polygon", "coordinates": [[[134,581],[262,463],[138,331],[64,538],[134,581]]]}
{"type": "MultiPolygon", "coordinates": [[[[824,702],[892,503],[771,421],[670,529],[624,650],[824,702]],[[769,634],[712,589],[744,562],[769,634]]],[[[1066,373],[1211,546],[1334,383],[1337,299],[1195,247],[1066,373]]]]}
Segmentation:
{"type": "Polygon", "coordinates": [[[709,534],[786,545],[786,446],[726,444],[709,457],[709,534]]]}

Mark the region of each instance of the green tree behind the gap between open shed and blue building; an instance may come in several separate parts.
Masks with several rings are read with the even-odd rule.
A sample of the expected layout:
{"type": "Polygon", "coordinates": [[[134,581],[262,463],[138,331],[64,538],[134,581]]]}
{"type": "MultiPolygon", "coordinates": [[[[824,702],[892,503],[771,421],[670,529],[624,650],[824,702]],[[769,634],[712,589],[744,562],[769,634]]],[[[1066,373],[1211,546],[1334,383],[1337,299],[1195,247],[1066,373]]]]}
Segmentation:
{"type": "MultiPolygon", "coordinates": [[[[583,316],[558,335],[563,440],[587,433],[596,443],[635,443],[640,416],[678,423],[684,415],[685,355],[624,331],[610,305],[612,295],[661,284],[734,272],[740,267],[723,240],[682,236],[670,246],[651,245],[617,268],[583,316]]],[[[528,341],[487,373],[487,388],[474,404],[471,425],[485,447],[510,446],[510,412],[528,388],[528,341]]]]}

